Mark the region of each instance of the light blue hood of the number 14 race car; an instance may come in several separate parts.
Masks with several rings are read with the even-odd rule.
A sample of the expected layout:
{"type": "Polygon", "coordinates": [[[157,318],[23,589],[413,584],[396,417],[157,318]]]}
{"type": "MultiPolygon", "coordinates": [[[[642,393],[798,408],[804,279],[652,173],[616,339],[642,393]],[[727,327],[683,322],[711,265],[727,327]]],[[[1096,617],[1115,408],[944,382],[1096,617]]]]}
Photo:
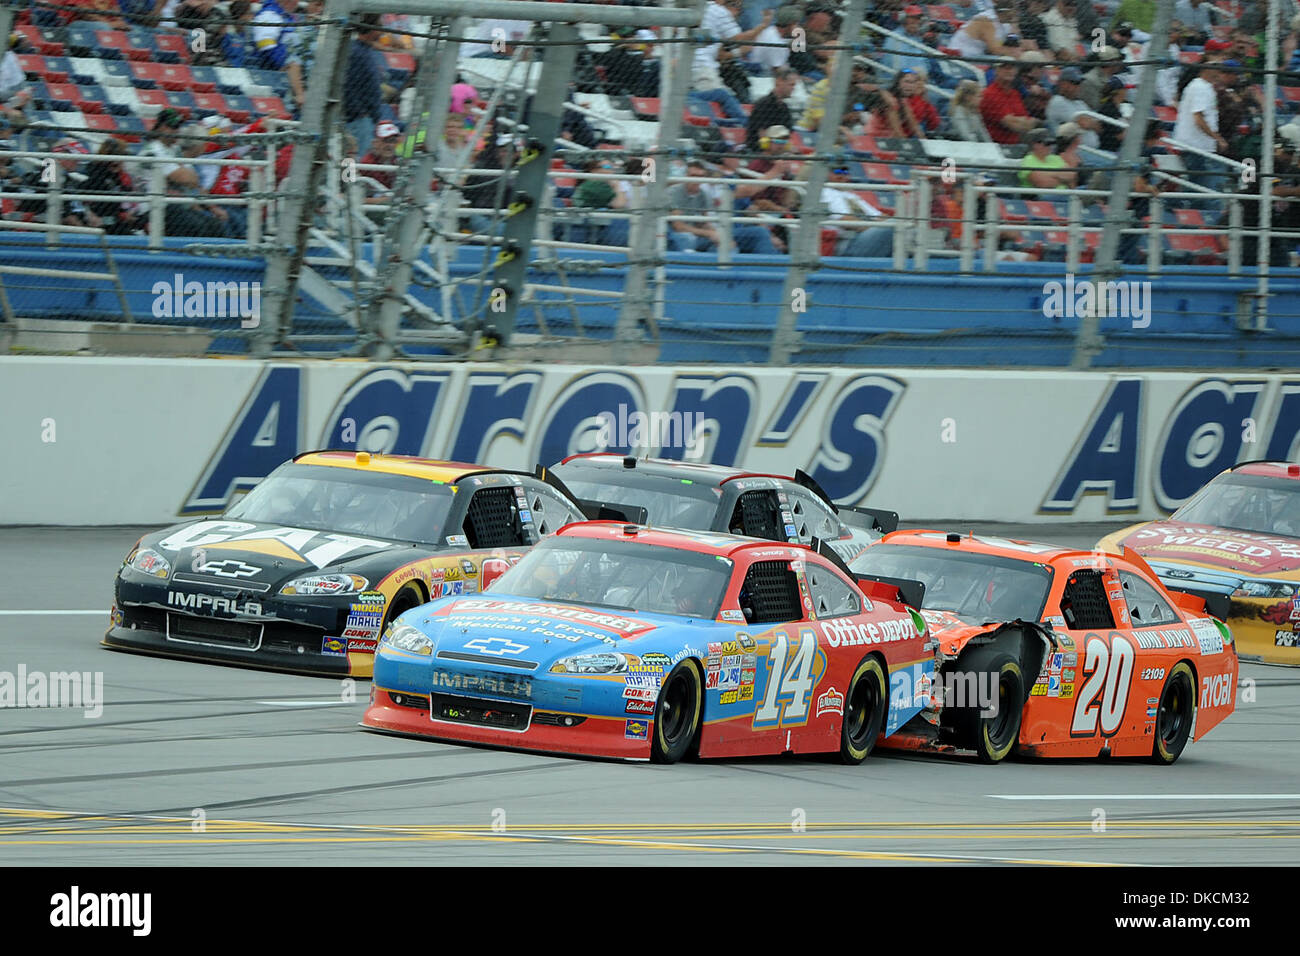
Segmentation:
{"type": "MultiPolygon", "coordinates": [[[[434,640],[439,661],[545,671],[576,654],[646,654],[684,646],[690,618],[588,607],[506,594],[450,598],[406,614],[434,640]]],[[[698,641],[697,641],[698,643],[698,641]]]]}

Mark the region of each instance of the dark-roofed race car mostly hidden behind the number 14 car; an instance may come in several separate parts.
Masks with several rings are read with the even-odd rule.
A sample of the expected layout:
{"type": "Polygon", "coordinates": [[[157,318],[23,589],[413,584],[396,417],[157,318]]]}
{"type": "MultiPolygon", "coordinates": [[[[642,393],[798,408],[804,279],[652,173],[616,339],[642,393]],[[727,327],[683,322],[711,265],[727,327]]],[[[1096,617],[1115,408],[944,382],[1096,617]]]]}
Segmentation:
{"type": "Polygon", "coordinates": [[[824,541],[850,561],[898,515],[836,505],[809,475],[754,475],[720,464],[607,453],[569,455],[551,468],[588,514],[663,528],[720,531],[771,541],[824,541]]]}

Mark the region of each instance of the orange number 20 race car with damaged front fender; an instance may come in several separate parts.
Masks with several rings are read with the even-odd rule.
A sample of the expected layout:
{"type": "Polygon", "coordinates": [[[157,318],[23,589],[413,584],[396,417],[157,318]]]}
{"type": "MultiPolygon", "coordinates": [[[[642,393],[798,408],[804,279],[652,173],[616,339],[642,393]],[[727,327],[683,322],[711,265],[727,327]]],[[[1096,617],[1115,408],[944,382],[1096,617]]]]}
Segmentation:
{"type": "Polygon", "coordinates": [[[888,747],[1173,763],[1232,713],[1231,632],[1132,551],[907,531],[853,570],[922,581],[939,641],[931,702],[888,747]]]}

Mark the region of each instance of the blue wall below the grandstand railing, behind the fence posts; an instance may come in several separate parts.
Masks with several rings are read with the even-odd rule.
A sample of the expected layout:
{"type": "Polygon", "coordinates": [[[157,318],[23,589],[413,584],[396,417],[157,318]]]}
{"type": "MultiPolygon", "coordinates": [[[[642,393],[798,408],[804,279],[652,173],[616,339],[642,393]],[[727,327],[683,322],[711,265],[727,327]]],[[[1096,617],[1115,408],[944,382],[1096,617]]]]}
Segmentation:
{"type": "MultiPolygon", "coordinates": [[[[202,247],[194,241],[172,241],[202,247]]],[[[66,239],[58,248],[21,248],[0,242],[0,255],[13,265],[55,265],[92,269],[103,265],[96,247],[66,239]]],[[[463,248],[452,264],[454,277],[465,278],[480,267],[482,250],[463,248]]],[[[618,319],[618,302],[593,303],[582,287],[620,291],[627,278],[621,258],[588,254],[593,263],[608,263],[595,274],[575,277],[575,298],[584,302],[581,329],[573,326],[572,310],[559,293],[538,293],[540,323],[532,308],[520,312],[523,332],[547,332],[563,359],[564,341],[575,333],[608,338],[618,319]],[[545,324],[545,328],[543,328],[545,324]]],[[[771,336],[780,311],[785,267],[760,256],[720,267],[703,256],[698,264],[668,267],[666,316],[660,328],[662,362],[767,362],[771,336]]],[[[211,354],[244,352],[247,333],[237,317],[208,319],[203,315],[155,315],[156,287],[188,282],[261,281],[263,263],[222,255],[187,256],[179,252],[146,252],[121,248],[114,260],[126,298],[136,321],[196,325],[218,329],[211,354]]],[[[842,264],[879,267],[883,260],[840,260],[842,264]]],[[[950,268],[956,260],[932,263],[950,268]]],[[[333,274],[328,267],[324,274],[333,274]]],[[[536,271],[534,280],[558,281],[536,271]]],[[[1256,280],[1231,278],[1196,267],[1171,267],[1156,282],[1121,277],[1135,291],[1131,308],[1100,320],[1105,336],[1095,367],[1206,367],[1290,368],[1300,365],[1300,271],[1278,271],[1273,280],[1269,328],[1249,320],[1248,300],[1256,280]],[[1283,274],[1286,273],[1286,274],[1283,274]]],[[[997,274],[911,274],[907,272],[863,273],[853,268],[823,269],[810,277],[806,311],[800,315],[803,342],[798,363],[827,360],[862,364],[907,365],[1066,365],[1076,343],[1079,310],[1074,299],[1052,307],[1052,287],[1062,293],[1070,280],[1060,264],[1006,264],[997,274]]],[[[69,281],[58,289],[10,280],[8,294],[14,310],[31,317],[77,317],[114,320],[121,308],[112,284],[69,281]]],[[[1079,287],[1083,281],[1080,277],[1079,287]]],[[[436,304],[437,291],[413,287],[413,294],[436,304]]],[[[1063,295],[1069,299],[1069,295],[1063,295]]],[[[355,326],[346,316],[330,313],[303,297],[296,324],[328,334],[321,342],[302,341],[304,350],[347,351],[355,345],[355,326]]],[[[419,351],[413,349],[412,351],[419,351]]],[[[436,351],[428,349],[428,351],[436,351]]]]}

